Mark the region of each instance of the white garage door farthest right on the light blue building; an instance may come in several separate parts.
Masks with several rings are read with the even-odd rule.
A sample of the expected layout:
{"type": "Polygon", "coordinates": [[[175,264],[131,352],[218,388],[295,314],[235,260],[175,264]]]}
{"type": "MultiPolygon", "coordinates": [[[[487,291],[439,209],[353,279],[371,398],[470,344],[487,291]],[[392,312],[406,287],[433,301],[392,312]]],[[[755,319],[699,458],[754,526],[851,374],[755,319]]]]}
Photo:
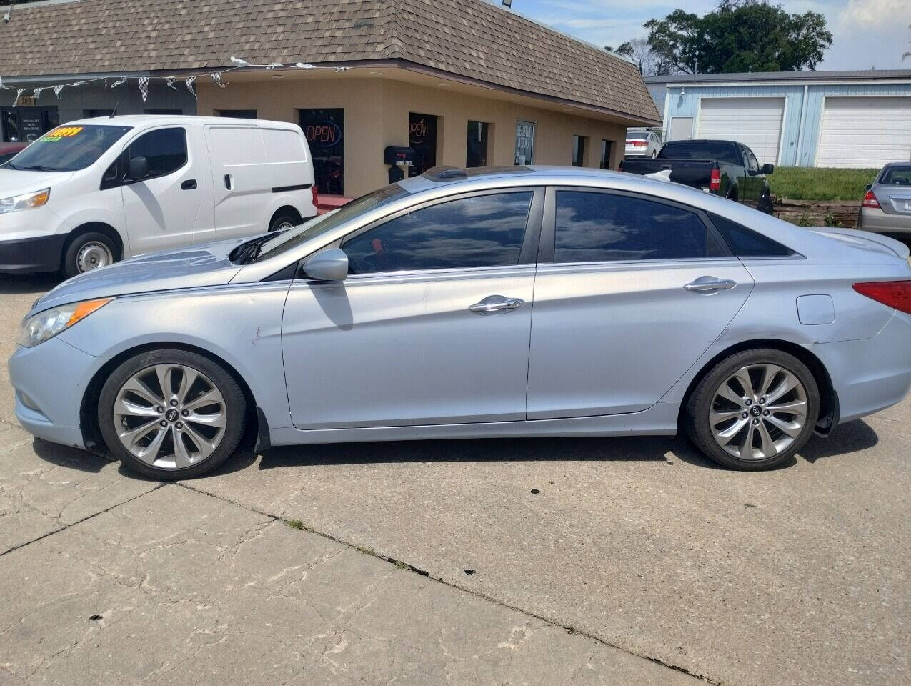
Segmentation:
{"type": "Polygon", "coordinates": [[[817,167],[911,160],[911,97],[826,97],[817,167]]]}

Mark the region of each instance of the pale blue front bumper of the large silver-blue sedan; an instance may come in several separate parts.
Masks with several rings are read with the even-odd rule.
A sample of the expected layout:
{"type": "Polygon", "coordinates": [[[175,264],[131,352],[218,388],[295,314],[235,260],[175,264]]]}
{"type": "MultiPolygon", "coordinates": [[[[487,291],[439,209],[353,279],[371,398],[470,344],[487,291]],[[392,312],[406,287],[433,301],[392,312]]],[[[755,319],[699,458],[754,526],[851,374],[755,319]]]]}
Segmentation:
{"type": "Polygon", "coordinates": [[[59,337],[34,348],[17,346],[9,359],[15,417],[29,434],[86,447],[79,410],[89,381],[105,357],[83,353],[59,337]]]}

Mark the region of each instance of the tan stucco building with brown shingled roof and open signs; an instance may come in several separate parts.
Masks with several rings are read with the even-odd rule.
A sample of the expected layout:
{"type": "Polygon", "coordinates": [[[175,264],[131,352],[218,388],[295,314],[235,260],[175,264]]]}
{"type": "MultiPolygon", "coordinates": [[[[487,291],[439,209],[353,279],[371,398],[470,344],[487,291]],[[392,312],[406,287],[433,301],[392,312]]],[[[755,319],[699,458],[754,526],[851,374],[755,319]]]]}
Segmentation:
{"type": "MultiPolygon", "coordinates": [[[[322,193],[387,183],[387,146],[411,148],[410,174],[615,169],[626,128],[660,120],[632,64],[484,0],[80,0],[23,8],[16,21],[15,33],[0,27],[0,77],[16,86],[182,81],[245,60],[226,87],[200,76],[197,113],[300,124],[322,193]]],[[[154,107],[168,108],[175,91],[157,86],[154,107]]]]}

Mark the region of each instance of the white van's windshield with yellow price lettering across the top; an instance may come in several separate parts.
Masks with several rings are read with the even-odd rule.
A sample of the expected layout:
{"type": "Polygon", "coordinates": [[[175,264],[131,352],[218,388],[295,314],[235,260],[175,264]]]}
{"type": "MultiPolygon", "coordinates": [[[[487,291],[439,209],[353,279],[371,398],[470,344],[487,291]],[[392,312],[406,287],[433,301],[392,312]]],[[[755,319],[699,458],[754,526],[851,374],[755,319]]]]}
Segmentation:
{"type": "Polygon", "coordinates": [[[22,171],[77,171],[86,169],[100,158],[130,127],[106,127],[95,124],[57,127],[38,138],[4,169],[22,171]]]}

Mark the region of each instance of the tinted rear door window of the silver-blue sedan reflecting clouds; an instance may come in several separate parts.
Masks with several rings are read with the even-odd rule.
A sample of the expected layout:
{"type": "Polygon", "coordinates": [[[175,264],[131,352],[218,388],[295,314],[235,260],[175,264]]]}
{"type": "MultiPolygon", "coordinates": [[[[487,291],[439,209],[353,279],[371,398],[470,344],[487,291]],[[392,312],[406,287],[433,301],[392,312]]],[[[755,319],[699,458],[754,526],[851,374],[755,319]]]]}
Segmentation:
{"type": "Polygon", "coordinates": [[[697,214],[609,193],[557,193],[555,262],[685,260],[720,257],[697,214]]]}

